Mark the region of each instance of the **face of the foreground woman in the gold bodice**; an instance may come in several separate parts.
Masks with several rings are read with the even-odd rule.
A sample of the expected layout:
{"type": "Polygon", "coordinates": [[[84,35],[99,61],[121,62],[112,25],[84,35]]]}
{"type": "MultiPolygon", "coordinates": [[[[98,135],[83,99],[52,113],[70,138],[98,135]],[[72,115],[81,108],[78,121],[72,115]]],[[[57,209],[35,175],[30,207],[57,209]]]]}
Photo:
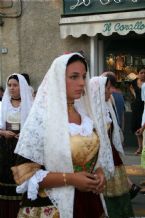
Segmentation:
{"type": "Polygon", "coordinates": [[[79,99],[84,91],[86,68],[80,61],[69,64],[66,68],[67,101],[79,99]]]}

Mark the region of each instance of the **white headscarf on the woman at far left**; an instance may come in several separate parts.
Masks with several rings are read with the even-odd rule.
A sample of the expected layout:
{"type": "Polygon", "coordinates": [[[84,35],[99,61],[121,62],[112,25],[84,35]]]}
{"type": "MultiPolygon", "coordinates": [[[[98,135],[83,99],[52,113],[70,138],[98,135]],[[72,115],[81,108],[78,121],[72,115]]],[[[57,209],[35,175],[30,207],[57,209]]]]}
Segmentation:
{"type": "Polygon", "coordinates": [[[19,80],[19,87],[20,87],[20,97],[21,97],[21,125],[20,127],[22,128],[24,125],[24,122],[28,116],[28,113],[32,107],[33,104],[33,97],[30,92],[30,88],[25,80],[25,78],[17,73],[11,74],[7,78],[6,82],[6,89],[2,98],[2,104],[1,104],[1,123],[0,123],[0,128],[5,129],[6,128],[6,118],[7,118],[7,111],[9,110],[9,105],[11,104],[11,96],[9,94],[9,89],[8,89],[8,80],[12,75],[16,75],[19,80]]]}

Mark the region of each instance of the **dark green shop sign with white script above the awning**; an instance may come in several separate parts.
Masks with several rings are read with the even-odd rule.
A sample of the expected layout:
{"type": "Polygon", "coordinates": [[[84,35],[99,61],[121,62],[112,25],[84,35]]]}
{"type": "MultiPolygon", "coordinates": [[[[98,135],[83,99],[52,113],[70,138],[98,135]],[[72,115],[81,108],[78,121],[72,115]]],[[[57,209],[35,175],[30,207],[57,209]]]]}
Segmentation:
{"type": "Polygon", "coordinates": [[[145,0],[63,0],[63,15],[85,15],[145,9],[145,0]]]}

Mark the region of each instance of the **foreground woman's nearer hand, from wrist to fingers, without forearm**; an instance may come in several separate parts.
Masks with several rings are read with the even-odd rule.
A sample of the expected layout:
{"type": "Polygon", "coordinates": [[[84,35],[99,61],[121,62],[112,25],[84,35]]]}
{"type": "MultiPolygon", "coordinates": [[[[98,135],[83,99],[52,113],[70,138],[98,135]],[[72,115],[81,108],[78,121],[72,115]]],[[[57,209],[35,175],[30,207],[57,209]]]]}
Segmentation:
{"type": "Polygon", "coordinates": [[[96,192],[98,187],[98,180],[96,175],[87,172],[74,173],[71,178],[71,185],[75,186],[80,191],[92,191],[96,192]]]}

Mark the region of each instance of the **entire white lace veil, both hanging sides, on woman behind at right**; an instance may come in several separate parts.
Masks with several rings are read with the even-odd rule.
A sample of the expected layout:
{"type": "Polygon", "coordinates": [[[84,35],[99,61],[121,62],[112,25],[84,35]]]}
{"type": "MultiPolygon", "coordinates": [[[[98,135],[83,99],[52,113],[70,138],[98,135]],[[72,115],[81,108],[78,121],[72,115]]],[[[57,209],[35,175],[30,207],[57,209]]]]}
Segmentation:
{"type": "Polygon", "coordinates": [[[108,101],[106,103],[105,101],[106,81],[106,77],[93,77],[90,79],[89,88],[95,125],[98,135],[100,137],[98,164],[105,169],[106,175],[107,177],[109,177],[109,174],[114,174],[114,161],[112,156],[110,139],[107,132],[107,123],[110,122],[110,118],[107,114],[107,108],[111,113],[112,121],[114,124],[113,143],[116,149],[121,153],[123,153],[123,148],[119,134],[119,126],[117,124],[111,102],[108,101]]]}

